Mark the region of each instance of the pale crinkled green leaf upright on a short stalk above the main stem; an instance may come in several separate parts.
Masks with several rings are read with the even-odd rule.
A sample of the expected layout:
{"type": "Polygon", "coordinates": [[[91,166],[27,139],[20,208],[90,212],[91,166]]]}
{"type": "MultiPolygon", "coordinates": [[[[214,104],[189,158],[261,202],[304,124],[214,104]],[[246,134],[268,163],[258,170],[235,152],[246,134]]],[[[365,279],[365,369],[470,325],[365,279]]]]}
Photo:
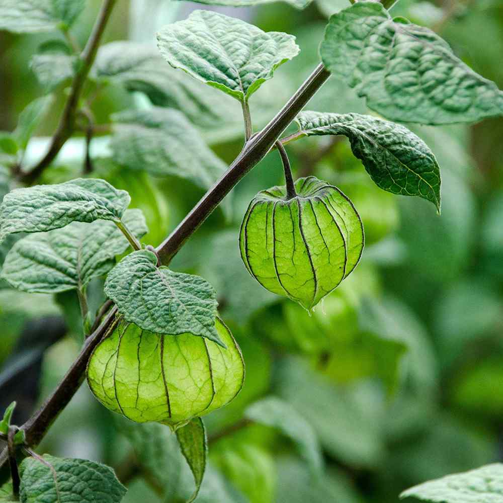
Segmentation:
{"type": "Polygon", "coordinates": [[[292,35],[266,33],[211,11],[194,11],[185,21],[166,26],[157,41],[172,66],[240,101],[299,52],[292,35]]]}

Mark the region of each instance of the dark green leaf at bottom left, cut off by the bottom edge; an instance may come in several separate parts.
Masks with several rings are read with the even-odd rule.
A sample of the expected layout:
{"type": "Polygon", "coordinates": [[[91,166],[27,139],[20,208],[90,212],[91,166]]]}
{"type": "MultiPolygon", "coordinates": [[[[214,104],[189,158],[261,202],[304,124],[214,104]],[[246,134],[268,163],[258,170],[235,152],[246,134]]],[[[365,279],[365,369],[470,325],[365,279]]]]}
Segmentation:
{"type": "Polygon", "coordinates": [[[23,503],[99,501],[119,503],[126,488],[108,466],[85,459],[26,458],[20,466],[23,503]]]}

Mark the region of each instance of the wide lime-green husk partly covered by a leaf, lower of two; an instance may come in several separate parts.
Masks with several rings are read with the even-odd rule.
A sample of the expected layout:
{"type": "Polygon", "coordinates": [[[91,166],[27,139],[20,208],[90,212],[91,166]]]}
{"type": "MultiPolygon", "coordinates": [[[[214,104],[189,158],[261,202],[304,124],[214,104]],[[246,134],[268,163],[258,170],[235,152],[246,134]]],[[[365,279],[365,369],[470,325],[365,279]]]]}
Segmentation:
{"type": "Polygon", "coordinates": [[[163,336],[121,319],[94,351],[88,383],[108,409],[132,421],[180,426],[232,400],[244,363],[229,329],[215,322],[221,348],[191,333],[163,336]]]}

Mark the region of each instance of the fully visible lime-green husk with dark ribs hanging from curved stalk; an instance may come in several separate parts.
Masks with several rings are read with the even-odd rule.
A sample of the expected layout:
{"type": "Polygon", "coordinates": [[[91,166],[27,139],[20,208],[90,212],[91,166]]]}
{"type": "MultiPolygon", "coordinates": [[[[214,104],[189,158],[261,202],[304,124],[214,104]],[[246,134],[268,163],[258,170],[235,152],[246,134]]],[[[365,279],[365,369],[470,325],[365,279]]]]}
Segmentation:
{"type": "Polygon", "coordinates": [[[248,272],[277,295],[314,307],[356,267],[364,233],[351,201],[337,187],[315,177],[259,192],[239,233],[248,272]]]}

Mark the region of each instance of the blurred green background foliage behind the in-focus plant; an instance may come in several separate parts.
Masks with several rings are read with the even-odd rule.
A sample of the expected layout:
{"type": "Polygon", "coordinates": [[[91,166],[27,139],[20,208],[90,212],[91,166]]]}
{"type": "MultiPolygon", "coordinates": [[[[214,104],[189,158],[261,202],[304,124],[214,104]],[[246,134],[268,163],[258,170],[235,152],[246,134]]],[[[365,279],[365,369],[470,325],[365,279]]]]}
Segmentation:
{"type": "MultiPolygon", "coordinates": [[[[88,0],[72,28],[78,45],[85,43],[99,6],[88,0]]],[[[218,9],[266,31],[292,33],[301,47],[251,101],[256,129],[316,65],[326,17],[345,6],[342,0],[316,0],[304,11],[283,3],[218,9]]],[[[105,42],[154,47],[156,29],[194,8],[201,6],[121,0],[105,42]]],[[[392,13],[441,33],[459,57],[503,89],[499,0],[400,0],[392,13]]],[[[15,130],[21,112],[45,95],[32,58],[55,37],[0,32],[0,131],[15,130]]],[[[119,53],[126,60],[134,56],[130,47],[119,53]]],[[[147,77],[149,71],[154,70],[145,70],[147,77]]],[[[161,73],[159,82],[167,86],[165,78],[161,73]]],[[[129,191],[132,206],[143,210],[149,224],[143,240],[154,245],[197,202],[204,183],[164,167],[169,162],[162,156],[149,166],[141,153],[124,154],[120,129],[110,142],[110,123],[127,122],[127,116],[115,114],[128,109],[148,116],[152,102],[178,108],[219,157],[215,162],[228,164],[242,145],[239,104],[197,82],[187,85],[211,109],[201,112],[195,101],[142,89],[134,76],[110,78],[88,90],[100,125],[91,145],[93,176],[129,191]]],[[[24,154],[28,163],[43,154],[66,92],[64,85],[56,86],[43,104],[45,115],[24,154]]],[[[372,113],[337,75],[307,108],[372,113]]],[[[359,210],[367,237],[360,265],[311,316],[262,289],[239,258],[238,228],[249,200],[282,184],[276,152],[239,183],[223,211],[205,222],[173,262],[174,269],[201,274],[213,284],[246,362],[241,394],[205,421],[211,468],[198,501],[389,503],[413,484],[503,461],[503,119],[408,127],[428,143],[441,166],[441,217],[426,201],[378,189],[345,138],[308,138],[288,146],[294,174],[314,174],[340,187],[359,210]],[[288,403],[313,429],[323,454],[321,474],[310,473],[281,428],[244,418],[250,404],[269,395],[288,403]]],[[[83,145],[82,135],[68,141],[43,182],[78,176],[83,145]]],[[[183,154],[193,144],[186,139],[177,148],[183,154]]],[[[1,286],[0,409],[17,399],[15,421],[21,423],[74,359],[82,337],[80,314],[74,292],[51,298],[1,286]]],[[[102,280],[94,281],[92,309],[102,301],[102,280]]],[[[288,423],[289,416],[282,421],[288,423]]],[[[178,501],[170,492],[174,485],[187,486],[187,494],[192,490],[173,439],[159,425],[131,431],[84,385],[40,450],[110,464],[128,482],[126,502],[167,503],[178,501]]]]}

